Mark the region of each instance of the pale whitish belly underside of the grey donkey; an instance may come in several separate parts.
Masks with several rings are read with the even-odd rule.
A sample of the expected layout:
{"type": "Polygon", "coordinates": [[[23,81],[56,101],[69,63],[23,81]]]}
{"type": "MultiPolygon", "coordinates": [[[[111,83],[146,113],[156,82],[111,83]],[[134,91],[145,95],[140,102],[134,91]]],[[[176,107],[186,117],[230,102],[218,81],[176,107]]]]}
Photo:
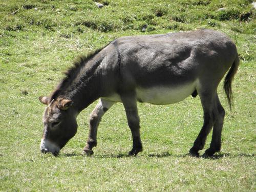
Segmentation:
{"type": "Polygon", "coordinates": [[[137,100],[152,104],[170,104],[184,100],[196,89],[196,82],[177,85],[175,87],[159,86],[137,88],[137,100]]]}

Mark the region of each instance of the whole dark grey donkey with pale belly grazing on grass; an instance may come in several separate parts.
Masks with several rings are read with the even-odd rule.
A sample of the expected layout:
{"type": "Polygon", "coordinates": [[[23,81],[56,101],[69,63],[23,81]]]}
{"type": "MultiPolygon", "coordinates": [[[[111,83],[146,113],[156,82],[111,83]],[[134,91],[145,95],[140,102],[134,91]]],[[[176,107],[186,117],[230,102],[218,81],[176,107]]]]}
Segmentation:
{"type": "Polygon", "coordinates": [[[90,115],[83,152],[92,155],[101,117],[116,102],[124,105],[133,146],[142,151],[137,101],[158,105],[200,96],[203,126],[189,153],[199,157],[213,127],[209,157],[221,149],[225,111],[217,87],[227,72],[224,90],[231,108],[231,82],[239,66],[236,45],[225,34],[208,29],[158,35],[125,36],[87,56],[80,56],[53,93],[41,96],[46,104],[40,151],[58,155],[77,132],[77,115],[99,99],[90,115]]]}

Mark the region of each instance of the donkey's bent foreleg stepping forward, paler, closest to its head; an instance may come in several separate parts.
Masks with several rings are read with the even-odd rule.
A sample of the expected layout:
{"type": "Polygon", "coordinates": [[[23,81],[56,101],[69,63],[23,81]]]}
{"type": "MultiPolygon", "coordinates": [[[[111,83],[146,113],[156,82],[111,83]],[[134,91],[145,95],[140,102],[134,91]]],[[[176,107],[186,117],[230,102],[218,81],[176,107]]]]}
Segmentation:
{"type": "Polygon", "coordinates": [[[83,152],[87,155],[93,155],[92,148],[97,145],[97,129],[101,117],[108,111],[115,102],[99,99],[98,104],[90,115],[90,129],[87,145],[83,148],[83,152]]]}

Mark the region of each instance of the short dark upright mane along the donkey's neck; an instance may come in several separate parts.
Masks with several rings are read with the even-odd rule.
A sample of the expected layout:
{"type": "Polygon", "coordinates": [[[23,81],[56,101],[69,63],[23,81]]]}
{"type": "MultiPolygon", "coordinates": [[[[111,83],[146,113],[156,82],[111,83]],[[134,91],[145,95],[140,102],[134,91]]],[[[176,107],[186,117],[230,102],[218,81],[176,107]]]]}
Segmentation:
{"type": "MultiPolygon", "coordinates": [[[[110,42],[111,43],[111,42],[110,42]]],[[[108,44],[109,45],[109,44],[108,44]]],[[[108,46],[106,45],[106,46],[108,46]]],[[[74,61],[73,66],[70,67],[64,74],[65,77],[60,81],[56,89],[52,92],[50,96],[50,101],[52,99],[56,99],[61,91],[65,90],[69,84],[72,82],[72,80],[75,79],[77,74],[79,73],[80,69],[86,65],[86,63],[93,58],[96,54],[98,54],[102,49],[104,49],[106,46],[97,49],[94,52],[88,53],[87,55],[79,55],[74,61]]]]}

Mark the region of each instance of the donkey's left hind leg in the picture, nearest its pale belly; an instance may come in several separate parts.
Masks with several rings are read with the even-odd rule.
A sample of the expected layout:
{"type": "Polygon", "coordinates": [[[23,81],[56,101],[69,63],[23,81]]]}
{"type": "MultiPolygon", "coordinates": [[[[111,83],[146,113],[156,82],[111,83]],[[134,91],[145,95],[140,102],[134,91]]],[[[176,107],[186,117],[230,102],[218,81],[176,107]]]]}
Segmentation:
{"type": "Polygon", "coordinates": [[[191,147],[189,150],[190,155],[196,156],[196,157],[199,157],[198,152],[199,150],[203,149],[206,138],[211,131],[212,125],[214,124],[213,110],[215,105],[214,93],[212,94],[212,92],[210,91],[205,91],[203,93],[199,93],[199,95],[200,95],[200,99],[201,99],[201,103],[204,111],[204,123],[197,139],[194,142],[193,147],[191,147]]]}

